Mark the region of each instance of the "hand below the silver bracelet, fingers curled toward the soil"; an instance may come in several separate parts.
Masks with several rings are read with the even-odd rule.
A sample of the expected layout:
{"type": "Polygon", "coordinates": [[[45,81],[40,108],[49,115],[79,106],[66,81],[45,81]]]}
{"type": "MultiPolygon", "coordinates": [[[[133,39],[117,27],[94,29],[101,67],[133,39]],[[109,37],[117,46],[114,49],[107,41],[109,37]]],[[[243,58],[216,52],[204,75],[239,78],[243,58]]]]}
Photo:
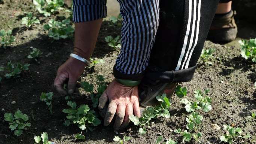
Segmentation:
{"type": "Polygon", "coordinates": [[[68,58],[68,60],[58,68],[57,76],[54,80],[54,88],[61,94],[73,94],[76,88],[76,82],[83,73],[86,64],[75,58],[68,58]],[[63,88],[64,82],[68,81],[68,92],[63,88]]]}

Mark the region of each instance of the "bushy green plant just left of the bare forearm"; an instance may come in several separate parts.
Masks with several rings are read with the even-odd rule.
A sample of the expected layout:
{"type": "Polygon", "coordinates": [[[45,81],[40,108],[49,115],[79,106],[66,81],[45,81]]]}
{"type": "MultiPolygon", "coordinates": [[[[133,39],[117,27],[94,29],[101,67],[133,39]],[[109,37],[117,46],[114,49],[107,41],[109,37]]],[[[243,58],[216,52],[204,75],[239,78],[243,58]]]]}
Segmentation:
{"type": "Polygon", "coordinates": [[[74,28],[70,25],[70,20],[55,21],[51,19],[48,24],[43,26],[45,31],[48,31],[48,36],[54,40],[66,39],[73,36],[74,28]]]}

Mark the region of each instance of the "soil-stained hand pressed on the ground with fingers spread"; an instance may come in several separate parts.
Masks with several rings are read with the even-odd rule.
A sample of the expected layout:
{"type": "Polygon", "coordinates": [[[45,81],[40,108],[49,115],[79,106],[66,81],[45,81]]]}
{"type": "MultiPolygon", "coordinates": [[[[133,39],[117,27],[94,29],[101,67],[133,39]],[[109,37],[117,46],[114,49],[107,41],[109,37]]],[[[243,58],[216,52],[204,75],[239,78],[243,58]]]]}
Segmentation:
{"type": "Polygon", "coordinates": [[[104,118],[105,126],[110,124],[115,113],[116,120],[114,123],[114,129],[116,130],[125,128],[129,124],[129,116],[132,113],[134,113],[135,116],[140,117],[137,86],[124,86],[116,82],[116,80],[113,80],[107,87],[106,91],[101,95],[98,108],[102,110],[107,101],[109,101],[109,105],[104,118]]]}

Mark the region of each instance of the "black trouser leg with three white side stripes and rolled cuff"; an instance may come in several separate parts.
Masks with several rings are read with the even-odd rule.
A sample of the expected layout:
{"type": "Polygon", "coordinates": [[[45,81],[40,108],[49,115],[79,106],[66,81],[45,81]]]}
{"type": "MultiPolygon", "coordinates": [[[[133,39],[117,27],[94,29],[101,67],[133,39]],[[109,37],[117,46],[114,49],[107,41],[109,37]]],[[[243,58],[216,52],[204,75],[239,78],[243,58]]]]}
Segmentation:
{"type": "MultiPolygon", "coordinates": [[[[224,1],[227,0],[221,2],[224,1]]],[[[144,79],[161,82],[192,79],[219,2],[160,0],[159,27],[144,79]]]]}

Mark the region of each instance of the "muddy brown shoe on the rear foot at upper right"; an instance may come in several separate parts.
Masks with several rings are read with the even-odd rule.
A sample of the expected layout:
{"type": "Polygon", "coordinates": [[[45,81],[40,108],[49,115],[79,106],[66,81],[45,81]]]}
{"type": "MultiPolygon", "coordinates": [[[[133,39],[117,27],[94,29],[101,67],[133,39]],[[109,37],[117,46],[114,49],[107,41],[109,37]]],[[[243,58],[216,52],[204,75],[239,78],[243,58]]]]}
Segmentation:
{"type": "Polygon", "coordinates": [[[215,43],[227,43],[237,37],[237,25],[234,19],[235,12],[231,10],[226,15],[214,16],[207,36],[207,40],[215,43]]]}

